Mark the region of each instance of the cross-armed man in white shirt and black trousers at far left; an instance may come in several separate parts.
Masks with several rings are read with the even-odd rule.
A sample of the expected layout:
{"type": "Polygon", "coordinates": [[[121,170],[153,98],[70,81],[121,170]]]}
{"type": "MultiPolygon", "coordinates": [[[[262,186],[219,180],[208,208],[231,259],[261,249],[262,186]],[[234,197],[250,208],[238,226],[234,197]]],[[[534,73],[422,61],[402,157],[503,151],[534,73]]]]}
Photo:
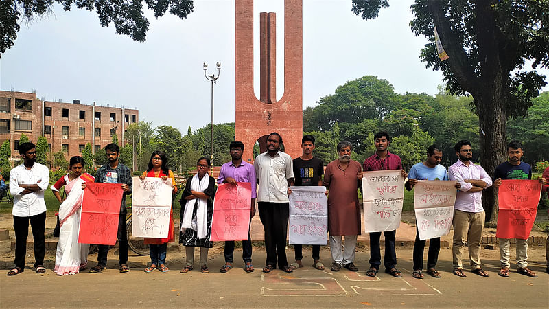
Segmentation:
{"type": "Polygon", "coordinates": [[[10,172],[10,193],[14,197],[12,215],[15,231],[15,268],[8,276],[17,275],[25,270],[29,220],[34,238],[34,270],[45,273],[43,266],[45,254],[46,203],[44,190],[49,185],[49,170],[45,165],[36,163],[36,146],[32,143],[19,145],[23,164],[10,172]]]}

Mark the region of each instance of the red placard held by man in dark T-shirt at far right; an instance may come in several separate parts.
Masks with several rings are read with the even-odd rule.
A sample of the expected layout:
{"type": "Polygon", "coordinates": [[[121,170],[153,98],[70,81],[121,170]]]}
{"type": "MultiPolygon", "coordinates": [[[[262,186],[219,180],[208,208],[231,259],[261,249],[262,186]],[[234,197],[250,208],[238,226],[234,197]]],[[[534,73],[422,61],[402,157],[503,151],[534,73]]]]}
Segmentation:
{"type": "Polygon", "coordinates": [[[541,197],[539,180],[502,180],[499,187],[498,238],[527,239],[541,197]]]}

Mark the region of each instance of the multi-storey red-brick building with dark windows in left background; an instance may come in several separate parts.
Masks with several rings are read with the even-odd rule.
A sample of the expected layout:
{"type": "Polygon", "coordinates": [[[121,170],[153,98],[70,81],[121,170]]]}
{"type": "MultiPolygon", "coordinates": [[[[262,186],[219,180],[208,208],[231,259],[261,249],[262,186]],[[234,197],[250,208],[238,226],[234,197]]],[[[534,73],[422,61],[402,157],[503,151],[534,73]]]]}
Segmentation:
{"type": "Polygon", "coordinates": [[[52,152],[63,150],[69,159],[80,155],[87,143],[95,153],[115,134],[123,146],[124,130],[138,121],[137,109],[42,101],[36,93],[0,91],[0,145],[8,139],[14,159],[23,133],[34,144],[46,137],[52,152]]]}

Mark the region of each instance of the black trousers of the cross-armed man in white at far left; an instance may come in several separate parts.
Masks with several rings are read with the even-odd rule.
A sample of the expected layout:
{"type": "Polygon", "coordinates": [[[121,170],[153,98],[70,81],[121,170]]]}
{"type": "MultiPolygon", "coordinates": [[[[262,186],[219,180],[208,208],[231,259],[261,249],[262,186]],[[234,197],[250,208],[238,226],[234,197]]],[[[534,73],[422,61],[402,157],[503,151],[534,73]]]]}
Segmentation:
{"type": "Polygon", "coordinates": [[[34,267],[44,264],[46,211],[30,217],[13,216],[13,229],[15,231],[15,266],[25,268],[25,255],[27,255],[27,238],[29,237],[29,221],[34,238],[34,267]]]}

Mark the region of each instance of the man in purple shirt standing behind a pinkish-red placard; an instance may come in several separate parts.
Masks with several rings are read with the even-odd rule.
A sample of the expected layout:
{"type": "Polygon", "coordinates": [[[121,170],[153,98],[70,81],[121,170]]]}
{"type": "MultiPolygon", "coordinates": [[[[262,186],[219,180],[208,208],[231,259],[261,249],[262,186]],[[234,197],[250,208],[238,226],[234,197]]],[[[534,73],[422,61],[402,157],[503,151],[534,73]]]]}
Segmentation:
{"type": "MultiPolygon", "coordinates": [[[[218,183],[230,183],[231,185],[237,185],[237,183],[250,183],[252,187],[252,203],[250,223],[255,215],[255,198],[256,198],[256,178],[253,165],[248,162],[242,161],[242,152],[244,152],[244,144],[242,141],[231,141],[229,144],[229,150],[231,151],[232,160],[221,165],[219,172],[218,183]]],[[[235,251],[235,242],[225,242],[225,265],[222,266],[220,273],[226,273],[233,268],[233,252],[235,251]]],[[[244,271],[251,273],[254,271],[252,266],[252,240],[250,238],[250,228],[248,227],[248,240],[242,240],[242,260],[246,264],[244,271]]]]}

